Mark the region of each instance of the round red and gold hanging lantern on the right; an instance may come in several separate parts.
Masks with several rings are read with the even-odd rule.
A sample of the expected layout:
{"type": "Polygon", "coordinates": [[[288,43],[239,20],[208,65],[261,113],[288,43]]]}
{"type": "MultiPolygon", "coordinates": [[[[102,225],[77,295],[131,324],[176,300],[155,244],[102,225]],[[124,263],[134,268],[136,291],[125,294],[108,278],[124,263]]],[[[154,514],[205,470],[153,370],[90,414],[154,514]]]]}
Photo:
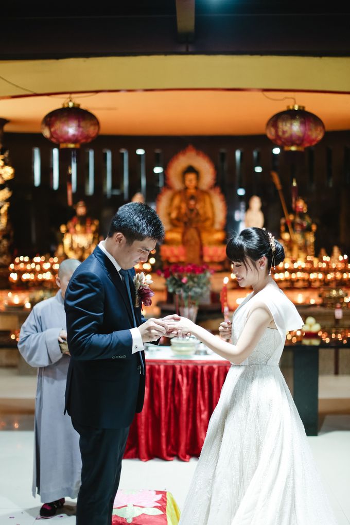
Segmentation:
{"type": "Polygon", "coordinates": [[[266,124],[268,138],[284,151],[304,151],[320,142],[324,131],[322,120],[297,104],[276,113],[266,124]]]}

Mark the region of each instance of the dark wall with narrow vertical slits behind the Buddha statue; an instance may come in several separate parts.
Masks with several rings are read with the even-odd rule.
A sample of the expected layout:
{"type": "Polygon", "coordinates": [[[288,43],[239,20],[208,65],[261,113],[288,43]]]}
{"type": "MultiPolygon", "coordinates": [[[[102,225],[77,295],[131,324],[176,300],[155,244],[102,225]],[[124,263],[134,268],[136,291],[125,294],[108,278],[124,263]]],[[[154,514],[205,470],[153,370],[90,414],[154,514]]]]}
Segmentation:
{"type": "MultiPolygon", "coordinates": [[[[295,177],[300,188],[300,195],[305,197],[309,212],[317,223],[316,252],[325,247],[331,250],[339,245],[342,250],[350,251],[348,235],[350,177],[349,147],[350,132],[328,132],[320,144],[305,152],[281,152],[272,154],[273,144],[264,135],[241,137],[121,137],[100,135],[87,148],[78,154],[78,188],[73,195],[74,202],[83,199],[87,202],[89,215],[100,219],[101,233],[107,233],[110,217],[123,204],[123,167],[120,150],[129,155],[129,196],[141,190],[140,156],[136,149],[145,150],[146,201],[152,205],[160,191],[160,177],[153,173],[155,150],[160,150],[164,167],[173,155],[192,144],[203,150],[213,160],[218,172],[218,184],[228,204],[229,233],[235,230],[237,222],[235,212],[240,202],[248,203],[253,193],[261,196],[266,227],[278,234],[282,207],[275,189],[270,170],[274,167],[279,172],[285,199],[290,206],[291,181],[295,177]],[[85,178],[88,165],[86,149],[94,151],[94,194],[86,195],[85,178]],[[114,187],[108,198],[105,194],[103,178],[105,165],[103,150],[112,153],[112,180],[114,187]],[[242,152],[241,184],[246,195],[237,195],[236,150],[242,152]],[[254,172],[253,152],[259,150],[262,172],[254,172]],[[328,160],[327,160],[328,159],[328,160]],[[332,178],[330,179],[330,169],[332,178]],[[327,178],[328,177],[328,178],[327,178]],[[120,184],[116,187],[116,184],[120,184]]],[[[50,155],[52,144],[40,134],[7,133],[5,145],[10,150],[10,157],[16,170],[13,181],[14,194],[10,206],[10,219],[14,226],[14,249],[18,253],[46,253],[55,249],[57,232],[60,224],[66,223],[74,214],[67,206],[65,163],[60,153],[59,187],[52,189],[50,155]],[[34,187],[32,169],[33,148],[40,149],[41,184],[34,187]]],[[[129,198],[130,198],[129,197],[129,198]]]]}

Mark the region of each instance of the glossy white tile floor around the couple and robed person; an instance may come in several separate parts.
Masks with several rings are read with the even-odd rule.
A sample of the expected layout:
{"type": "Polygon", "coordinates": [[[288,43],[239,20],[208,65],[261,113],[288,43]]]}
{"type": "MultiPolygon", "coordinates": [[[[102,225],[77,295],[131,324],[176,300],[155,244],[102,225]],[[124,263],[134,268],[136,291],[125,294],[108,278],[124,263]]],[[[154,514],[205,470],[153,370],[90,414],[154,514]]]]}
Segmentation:
{"type": "MultiPolygon", "coordinates": [[[[21,377],[0,369],[0,399],[9,401],[30,400],[35,392],[35,377],[21,377]]],[[[321,395],[337,398],[347,396],[349,383],[341,379],[336,395],[328,378],[321,388],[321,395]],[[344,384],[341,384],[341,383],[344,384]],[[323,393],[322,393],[323,391],[323,393]],[[345,392],[345,394],[344,394],[345,392]]],[[[33,525],[37,519],[40,499],[31,496],[31,472],[33,463],[33,430],[20,430],[33,425],[33,416],[22,414],[8,416],[7,428],[13,428],[15,420],[19,429],[0,432],[0,525],[33,525]],[[22,424],[24,422],[24,424],[22,424]]],[[[350,523],[350,415],[328,415],[324,419],[319,436],[309,437],[313,454],[330,497],[338,525],[350,523]]],[[[162,461],[154,459],[142,462],[136,459],[123,461],[121,488],[167,489],[171,491],[182,508],[190,479],[197,460],[162,461]]],[[[64,512],[51,522],[75,523],[72,516],[75,502],[68,500],[64,512]]]]}

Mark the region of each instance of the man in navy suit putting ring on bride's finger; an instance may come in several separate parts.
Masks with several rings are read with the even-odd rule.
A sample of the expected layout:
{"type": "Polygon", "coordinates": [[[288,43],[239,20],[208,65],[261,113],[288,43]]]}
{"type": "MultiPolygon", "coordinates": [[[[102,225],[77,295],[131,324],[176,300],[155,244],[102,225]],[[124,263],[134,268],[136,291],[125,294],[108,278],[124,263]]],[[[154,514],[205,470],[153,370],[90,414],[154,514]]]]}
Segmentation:
{"type": "Polygon", "coordinates": [[[143,406],[143,343],[167,333],[166,320],[173,319],[146,321],[135,308],[133,266],[163,237],[151,207],[121,206],[107,239],[77,268],[66,291],[66,409],[80,434],[82,459],[77,525],[112,521],[129,426],[143,406]]]}

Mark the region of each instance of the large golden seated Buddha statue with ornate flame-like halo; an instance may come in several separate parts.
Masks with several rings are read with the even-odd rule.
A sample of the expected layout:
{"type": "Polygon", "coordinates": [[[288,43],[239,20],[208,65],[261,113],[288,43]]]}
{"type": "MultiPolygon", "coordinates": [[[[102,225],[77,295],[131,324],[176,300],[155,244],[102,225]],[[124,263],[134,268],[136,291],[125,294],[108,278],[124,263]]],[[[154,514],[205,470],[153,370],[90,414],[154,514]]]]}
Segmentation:
{"type": "Polygon", "coordinates": [[[193,264],[224,260],[226,203],[219,188],[213,187],[213,163],[188,146],[169,162],[166,175],[170,187],[157,201],[165,225],[163,260],[193,264]]]}

